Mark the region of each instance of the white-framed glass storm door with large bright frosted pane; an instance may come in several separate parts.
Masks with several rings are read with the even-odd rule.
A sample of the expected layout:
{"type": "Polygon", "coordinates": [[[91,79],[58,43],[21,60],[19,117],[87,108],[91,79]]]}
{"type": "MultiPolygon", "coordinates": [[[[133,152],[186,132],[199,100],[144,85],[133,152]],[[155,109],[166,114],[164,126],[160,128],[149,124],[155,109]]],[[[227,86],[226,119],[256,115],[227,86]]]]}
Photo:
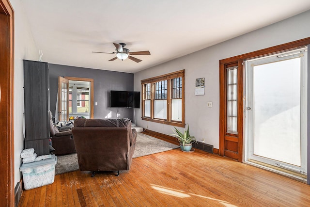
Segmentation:
{"type": "Polygon", "coordinates": [[[245,161],[307,176],[307,48],[246,61],[245,161]]]}

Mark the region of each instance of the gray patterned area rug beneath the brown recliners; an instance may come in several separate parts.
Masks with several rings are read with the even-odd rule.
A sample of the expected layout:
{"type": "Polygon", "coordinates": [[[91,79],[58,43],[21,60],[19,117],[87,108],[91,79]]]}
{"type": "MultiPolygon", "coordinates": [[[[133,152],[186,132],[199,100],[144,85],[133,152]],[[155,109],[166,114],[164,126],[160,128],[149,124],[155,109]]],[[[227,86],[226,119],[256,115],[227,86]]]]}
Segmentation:
{"type": "MultiPolygon", "coordinates": [[[[180,146],[138,132],[133,158],[164,152],[178,147],[180,146]]],[[[77,153],[57,156],[55,175],[76,171],[78,169],[77,153]]]]}

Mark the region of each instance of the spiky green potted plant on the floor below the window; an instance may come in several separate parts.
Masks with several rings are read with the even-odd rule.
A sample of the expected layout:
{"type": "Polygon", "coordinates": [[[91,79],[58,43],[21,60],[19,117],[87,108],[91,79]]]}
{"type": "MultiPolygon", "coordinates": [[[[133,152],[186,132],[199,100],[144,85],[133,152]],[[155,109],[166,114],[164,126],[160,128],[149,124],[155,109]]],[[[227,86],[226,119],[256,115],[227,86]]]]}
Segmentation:
{"type": "Polygon", "coordinates": [[[182,133],[179,129],[174,127],[175,131],[172,129],[173,134],[177,137],[177,140],[180,143],[180,147],[182,151],[190,151],[192,148],[192,143],[197,143],[196,138],[194,136],[191,136],[189,134],[189,126],[187,125],[187,130],[184,130],[184,133],[182,133]]]}

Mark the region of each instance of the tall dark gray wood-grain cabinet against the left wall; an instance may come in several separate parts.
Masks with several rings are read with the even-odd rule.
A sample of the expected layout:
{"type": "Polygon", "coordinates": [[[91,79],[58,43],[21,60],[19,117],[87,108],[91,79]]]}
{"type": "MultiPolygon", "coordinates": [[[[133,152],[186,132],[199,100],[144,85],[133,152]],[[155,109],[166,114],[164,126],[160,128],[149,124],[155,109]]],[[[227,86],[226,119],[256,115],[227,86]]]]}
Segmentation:
{"type": "Polygon", "coordinates": [[[24,60],[25,149],[49,154],[49,69],[46,62],[24,60]]]}

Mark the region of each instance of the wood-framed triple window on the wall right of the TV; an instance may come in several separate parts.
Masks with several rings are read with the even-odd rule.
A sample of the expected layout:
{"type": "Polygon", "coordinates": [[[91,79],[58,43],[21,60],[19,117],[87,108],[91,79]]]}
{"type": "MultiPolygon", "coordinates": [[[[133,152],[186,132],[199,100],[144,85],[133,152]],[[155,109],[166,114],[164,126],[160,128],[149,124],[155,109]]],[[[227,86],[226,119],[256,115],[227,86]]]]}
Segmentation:
{"type": "Polygon", "coordinates": [[[141,80],[142,120],[184,127],[184,70],[141,80]]]}

